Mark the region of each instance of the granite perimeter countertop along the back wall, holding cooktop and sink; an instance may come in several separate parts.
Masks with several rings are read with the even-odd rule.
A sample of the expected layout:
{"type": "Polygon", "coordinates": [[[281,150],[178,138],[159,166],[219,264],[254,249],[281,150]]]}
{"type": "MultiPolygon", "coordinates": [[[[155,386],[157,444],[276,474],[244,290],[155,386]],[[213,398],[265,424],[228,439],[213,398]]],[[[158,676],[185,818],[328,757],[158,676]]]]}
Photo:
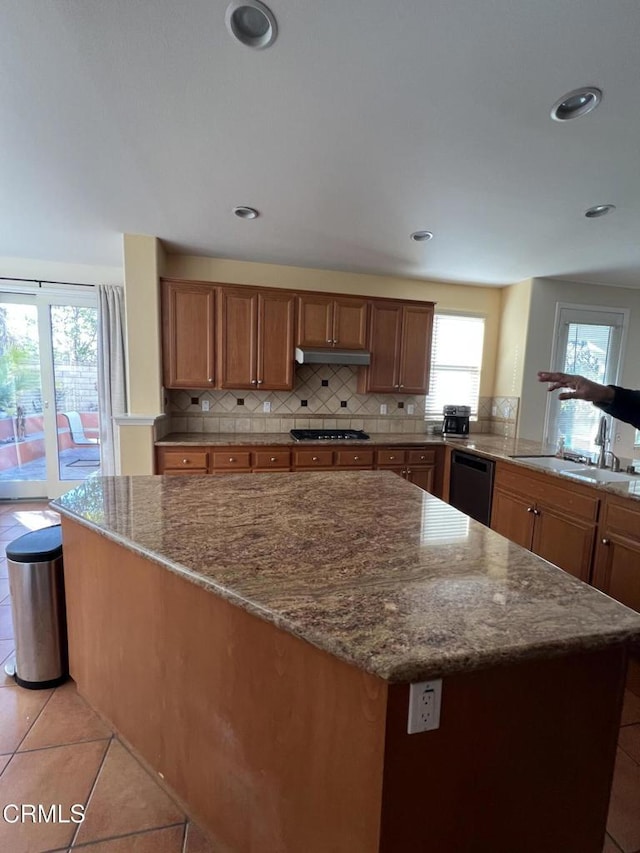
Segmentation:
{"type": "MultiPolygon", "coordinates": [[[[486,433],[471,434],[466,439],[443,438],[438,435],[428,435],[427,433],[369,433],[369,439],[351,440],[351,441],[296,441],[291,438],[289,433],[171,433],[165,438],[156,441],[159,447],[184,446],[185,444],[193,444],[199,447],[216,447],[216,446],[289,446],[299,449],[304,449],[308,446],[316,446],[318,443],[326,447],[340,446],[366,446],[366,445],[419,445],[425,447],[432,445],[435,447],[448,445],[456,447],[460,450],[468,450],[478,456],[484,456],[487,459],[502,460],[510,462],[514,465],[521,465],[531,471],[548,474],[551,477],[557,477],[564,480],[565,483],[581,483],[591,486],[594,489],[613,493],[620,497],[632,498],[640,500],[640,475],[631,478],[629,481],[622,482],[598,482],[582,477],[578,474],[569,474],[562,471],[553,471],[547,468],[541,468],[529,462],[526,457],[514,459],[514,456],[553,456],[553,449],[548,445],[538,441],[518,438],[504,438],[499,435],[489,435],[486,433]]],[[[640,466],[640,460],[634,460],[640,466]]]]}

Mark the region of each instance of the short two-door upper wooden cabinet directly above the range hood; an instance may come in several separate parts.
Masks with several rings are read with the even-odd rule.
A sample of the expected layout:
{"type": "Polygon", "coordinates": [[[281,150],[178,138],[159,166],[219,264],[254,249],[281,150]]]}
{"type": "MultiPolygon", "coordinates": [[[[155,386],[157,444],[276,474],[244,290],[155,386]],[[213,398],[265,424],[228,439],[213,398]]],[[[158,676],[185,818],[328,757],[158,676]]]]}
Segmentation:
{"type": "Polygon", "coordinates": [[[297,345],[366,349],[368,308],[367,299],[300,294],[297,345]]]}

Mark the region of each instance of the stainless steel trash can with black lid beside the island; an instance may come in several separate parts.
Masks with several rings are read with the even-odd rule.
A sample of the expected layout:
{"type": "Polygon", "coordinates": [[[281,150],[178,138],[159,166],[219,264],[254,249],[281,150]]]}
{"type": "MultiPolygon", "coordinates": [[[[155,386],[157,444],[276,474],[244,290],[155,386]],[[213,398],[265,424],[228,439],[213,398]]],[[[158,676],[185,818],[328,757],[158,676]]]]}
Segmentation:
{"type": "Polygon", "coordinates": [[[6,550],[15,680],[35,690],[53,687],[68,675],[61,527],[25,533],[6,550]]]}

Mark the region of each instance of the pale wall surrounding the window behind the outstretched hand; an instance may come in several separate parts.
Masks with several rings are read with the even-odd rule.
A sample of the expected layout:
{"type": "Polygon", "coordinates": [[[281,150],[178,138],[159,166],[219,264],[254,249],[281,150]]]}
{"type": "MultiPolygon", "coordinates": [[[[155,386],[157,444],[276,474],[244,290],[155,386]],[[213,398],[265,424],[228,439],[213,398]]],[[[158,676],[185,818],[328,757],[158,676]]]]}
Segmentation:
{"type": "MultiPolygon", "coordinates": [[[[525,350],[525,367],[520,404],[519,436],[541,441],[547,405],[546,385],[538,382],[538,370],[551,366],[556,304],[569,302],[576,305],[627,308],[630,310],[629,328],[622,353],[620,384],[627,388],[640,388],[640,290],[623,287],[606,287],[555,279],[535,279],[531,293],[529,329],[525,350]]],[[[618,456],[634,455],[635,431],[628,424],[619,424],[620,440],[615,445],[618,456]]]]}

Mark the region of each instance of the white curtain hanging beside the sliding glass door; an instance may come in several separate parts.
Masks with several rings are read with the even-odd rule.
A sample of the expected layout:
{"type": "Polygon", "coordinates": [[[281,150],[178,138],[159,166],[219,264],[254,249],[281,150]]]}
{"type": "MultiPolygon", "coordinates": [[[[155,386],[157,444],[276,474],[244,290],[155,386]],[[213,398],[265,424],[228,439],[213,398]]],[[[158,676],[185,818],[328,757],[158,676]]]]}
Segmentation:
{"type": "Polygon", "coordinates": [[[109,476],[116,473],[113,418],[127,411],[124,291],[113,284],[99,284],[96,290],[101,473],[109,476]]]}

